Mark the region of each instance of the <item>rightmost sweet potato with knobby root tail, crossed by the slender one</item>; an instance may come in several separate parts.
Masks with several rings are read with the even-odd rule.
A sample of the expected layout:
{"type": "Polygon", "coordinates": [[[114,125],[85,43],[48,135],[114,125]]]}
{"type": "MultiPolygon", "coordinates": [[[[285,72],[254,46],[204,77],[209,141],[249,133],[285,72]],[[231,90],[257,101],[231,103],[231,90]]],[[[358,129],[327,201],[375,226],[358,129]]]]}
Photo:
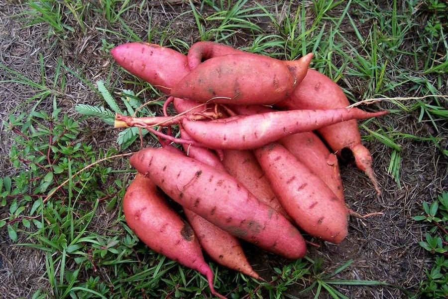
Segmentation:
{"type": "MultiPolygon", "coordinates": [[[[287,109],[333,109],[349,106],[343,90],[326,75],[310,69],[307,75],[286,100],[277,104],[287,109]]],[[[381,194],[372,169],[372,156],[361,144],[361,135],[355,120],[335,124],[318,130],[330,148],[340,154],[342,149],[350,149],[356,166],[364,171],[373,183],[378,195],[381,194]]]]}

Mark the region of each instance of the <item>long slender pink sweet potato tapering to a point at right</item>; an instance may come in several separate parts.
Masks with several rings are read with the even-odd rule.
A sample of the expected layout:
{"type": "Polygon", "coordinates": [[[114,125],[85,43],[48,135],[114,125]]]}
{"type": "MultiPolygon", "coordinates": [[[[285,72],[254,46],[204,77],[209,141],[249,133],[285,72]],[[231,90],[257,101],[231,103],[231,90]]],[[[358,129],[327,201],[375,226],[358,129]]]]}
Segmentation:
{"type": "Polygon", "coordinates": [[[211,149],[255,149],[291,134],[387,113],[388,111],[369,113],[357,108],[292,110],[238,115],[209,122],[184,119],[182,125],[194,140],[211,149]]]}

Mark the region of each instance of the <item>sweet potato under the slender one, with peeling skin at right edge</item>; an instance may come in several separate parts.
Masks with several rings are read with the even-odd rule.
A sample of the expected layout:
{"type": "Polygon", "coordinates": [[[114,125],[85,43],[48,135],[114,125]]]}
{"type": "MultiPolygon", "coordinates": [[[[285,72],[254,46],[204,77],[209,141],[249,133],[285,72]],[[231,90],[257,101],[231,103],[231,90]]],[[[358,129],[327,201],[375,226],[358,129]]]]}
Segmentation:
{"type": "MultiPolygon", "coordinates": [[[[233,106],[232,109],[240,115],[274,111],[262,105],[233,106]]],[[[327,149],[316,134],[313,132],[292,134],[279,139],[278,142],[322,179],[337,198],[345,202],[337,157],[327,149]]]]}

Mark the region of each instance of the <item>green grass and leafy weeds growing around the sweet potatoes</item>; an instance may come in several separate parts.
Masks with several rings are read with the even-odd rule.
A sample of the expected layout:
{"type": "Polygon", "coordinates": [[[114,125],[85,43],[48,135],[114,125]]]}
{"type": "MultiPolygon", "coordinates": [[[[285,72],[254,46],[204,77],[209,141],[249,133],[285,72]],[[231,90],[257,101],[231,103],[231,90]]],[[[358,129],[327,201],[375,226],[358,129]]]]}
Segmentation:
{"type": "MultiPolygon", "coordinates": [[[[186,10],[167,27],[150,24],[146,36],[141,36],[134,32],[132,23],[123,15],[131,10],[142,11],[144,5],[144,1],[134,4],[128,0],[28,1],[27,11],[20,17],[26,26],[46,23],[48,38],[57,37],[54,46],[58,46],[58,40],[70,39],[76,33],[92,29],[90,21],[101,16],[102,22],[93,29],[101,32],[105,51],[116,40],[142,39],[157,40],[185,51],[191,40],[177,36],[170,26],[176,18],[188,16],[197,26],[198,40],[215,40],[229,45],[243,40],[243,50],[280,59],[315,53],[312,67],[342,83],[353,103],[383,95],[393,98],[406,90],[421,99],[388,99],[394,113],[416,115],[419,122],[430,122],[436,131],[442,130],[441,126],[447,120],[446,98],[423,98],[440,95],[439,90],[444,84],[442,75],[448,70],[448,56],[440,55],[448,52],[447,27],[443,25],[447,17],[446,6],[437,0],[429,1],[427,5],[433,13],[424,32],[413,37],[420,39],[417,43],[407,41],[409,34],[420,26],[421,12],[415,10],[417,2],[411,0],[404,1],[402,7],[395,0],[392,9],[383,9],[363,0],[315,1],[309,6],[290,4],[280,7],[284,9],[281,17],[272,7],[245,0],[202,0],[184,6],[186,10]],[[310,14],[311,18],[304,17],[310,14]],[[273,29],[266,33],[255,21],[257,19],[267,21],[273,29]],[[347,28],[351,32],[350,39],[345,32],[347,28]],[[423,63],[421,57],[426,57],[423,63]],[[398,62],[404,59],[413,61],[413,68],[400,68],[398,62]],[[357,78],[359,85],[346,86],[344,77],[357,78]]],[[[0,219],[0,227],[6,227],[13,241],[17,241],[19,235],[27,237],[27,242],[16,246],[37,248],[45,254],[45,279],[50,287],[37,291],[33,298],[208,296],[208,285],[203,276],[147,249],[127,227],[120,203],[133,175],[130,168],[113,169],[112,162],[106,161],[74,175],[86,165],[118,152],[113,147],[93,149],[81,138],[89,134],[80,125],[83,117],[79,115],[78,120],[72,120],[63,116],[59,100],[66,92],[65,76],[73,75],[98,95],[98,105],[78,106],[78,112],[106,121],[111,120],[112,112],[132,114],[146,97],[157,96],[157,91],[136,78],[127,82],[113,82],[110,78],[104,78],[103,83],[92,82],[80,72],[66,67],[62,59],[57,61],[54,76],[49,81],[44,75],[43,55],[39,57],[41,80],[38,82],[26,74],[0,66],[8,75],[6,81],[34,91],[26,102],[17,106],[9,119],[9,134],[15,138],[10,158],[19,174],[0,179],[0,203],[8,207],[8,215],[0,219]],[[117,92],[115,87],[123,83],[135,89],[117,92]],[[52,111],[40,109],[43,101],[53,103],[52,111]],[[19,113],[24,107],[30,107],[29,112],[19,113]],[[66,185],[43,202],[47,194],[67,179],[66,185]],[[102,218],[109,219],[107,226],[101,226],[102,218]]],[[[160,106],[160,103],[155,105],[160,106]]],[[[156,106],[141,112],[154,113],[156,106]]],[[[361,128],[365,140],[375,140],[390,148],[388,172],[398,187],[401,186],[401,143],[406,140],[428,142],[448,154],[441,146],[444,138],[400,132],[376,120],[362,123],[361,128]]],[[[121,149],[135,145],[137,131],[120,134],[121,149]]],[[[338,291],[338,286],[384,285],[378,281],[335,279],[336,274],[348,269],[350,261],[341,261],[336,269],[326,269],[323,262],[307,257],[287,263],[281,269],[274,269],[270,284],[254,281],[214,263],[212,267],[217,290],[221,294],[231,293],[232,298],[263,298],[266,294],[269,298],[295,298],[290,295],[292,290],[300,290],[299,298],[311,292],[315,298],[324,292],[332,298],[347,298],[338,291]]],[[[438,263],[444,266],[446,262],[438,263]]],[[[431,273],[428,277],[428,283],[422,283],[421,292],[440,292],[442,287],[431,285],[432,281],[438,283],[440,277],[431,276],[431,273]],[[429,289],[430,286],[433,289],[429,289]]]]}

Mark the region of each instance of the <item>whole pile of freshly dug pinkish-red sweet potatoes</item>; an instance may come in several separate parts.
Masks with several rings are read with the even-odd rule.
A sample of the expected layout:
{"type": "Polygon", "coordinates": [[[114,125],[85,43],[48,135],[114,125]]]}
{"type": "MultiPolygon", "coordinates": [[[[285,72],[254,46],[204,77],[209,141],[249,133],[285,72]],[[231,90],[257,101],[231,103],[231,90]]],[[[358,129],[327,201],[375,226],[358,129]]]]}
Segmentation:
{"type": "Polygon", "coordinates": [[[127,43],[112,56],[170,96],[165,116],[116,116],[116,127],[151,130],[162,146],[130,158],[139,174],[123,200],[126,221],[151,249],[204,274],[216,296],[223,298],[202,250],[260,279],[239,238],[289,259],[307,252],[300,231],[336,244],[345,238],[350,210],[336,157],[341,149],[351,149],[379,194],[356,120],[387,111],[345,108],[340,87],[309,69],[313,54],[281,61],[198,42],[188,55],[127,43]],[[169,104],[177,115],[167,115],[169,104]],[[174,124],[180,137],[171,136],[174,124]],[[164,126],[168,134],[153,129],[164,126]],[[182,205],[186,220],[166,196],[182,205]]]}

